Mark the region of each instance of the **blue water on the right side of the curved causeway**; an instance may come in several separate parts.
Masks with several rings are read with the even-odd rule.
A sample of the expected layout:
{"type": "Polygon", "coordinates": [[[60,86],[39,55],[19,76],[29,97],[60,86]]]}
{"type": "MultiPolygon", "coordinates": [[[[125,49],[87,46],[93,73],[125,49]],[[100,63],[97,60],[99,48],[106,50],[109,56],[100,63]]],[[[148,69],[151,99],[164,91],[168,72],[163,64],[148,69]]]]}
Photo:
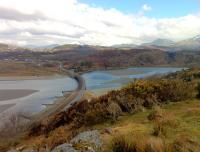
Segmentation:
{"type": "Polygon", "coordinates": [[[167,74],[182,68],[127,68],[121,70],[94,71],[83,75],[88,90],[96,94],[120,88],[135,78],[145,78],[155,74],[167,74]]]}

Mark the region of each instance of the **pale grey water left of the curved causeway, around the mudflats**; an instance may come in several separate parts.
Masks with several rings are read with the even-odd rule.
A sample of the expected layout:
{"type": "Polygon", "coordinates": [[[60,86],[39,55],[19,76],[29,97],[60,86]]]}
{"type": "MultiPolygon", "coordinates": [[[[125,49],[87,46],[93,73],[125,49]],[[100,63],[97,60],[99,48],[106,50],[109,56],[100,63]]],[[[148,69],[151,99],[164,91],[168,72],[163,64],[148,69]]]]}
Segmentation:
{"type": "Polygon", "coordinates": [[[16,104],[8,110],[23,110],[38,112],[45,108],[43,104],[53,103],[56,97],[62,96],[62,91],[69,91],[76,88],[76,81],[68,77],[41,79],[41,80],[22,80],[22,81],[0,81],[0,90],[4,89],[33,89],[38,92],[29,96],[5,100],[1,105],[16,104]]]}

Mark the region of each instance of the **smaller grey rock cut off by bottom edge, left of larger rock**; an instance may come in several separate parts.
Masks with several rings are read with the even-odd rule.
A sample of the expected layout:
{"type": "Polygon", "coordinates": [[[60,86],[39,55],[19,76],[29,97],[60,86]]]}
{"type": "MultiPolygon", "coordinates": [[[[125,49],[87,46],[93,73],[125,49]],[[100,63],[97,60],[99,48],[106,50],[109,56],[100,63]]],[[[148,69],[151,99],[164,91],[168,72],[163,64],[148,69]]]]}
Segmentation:
{"type": "Polygon", "coordinates": [[[79,152],[79,151],[75,150],[71,144],[65,143],[55,147],[51,152],[79,152]]]}

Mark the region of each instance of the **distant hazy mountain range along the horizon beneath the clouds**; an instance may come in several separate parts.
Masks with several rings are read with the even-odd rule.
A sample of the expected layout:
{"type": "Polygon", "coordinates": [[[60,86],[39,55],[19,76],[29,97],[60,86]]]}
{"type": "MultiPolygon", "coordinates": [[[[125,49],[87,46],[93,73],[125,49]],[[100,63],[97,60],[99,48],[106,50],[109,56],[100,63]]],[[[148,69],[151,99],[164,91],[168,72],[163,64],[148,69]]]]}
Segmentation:
{"type": "Polygon", "coordinates": [[[27,45],[24,47],[19,47],[16,45],[8,45],[0,43],[0,52],[7,51],[18,51],[18,50],[30,50],[30,51],[45,51],[45,52],[54,52],[54,51],[67,51],[67,50],[110,50],[110,49],[159,49],[167,52],[176,52],[176,51],[200,51],[200,35],[197,35],[193,38],[182,40],[179,42],[174,42],[169,39],[156,39],[149,43],[143,43],[141,45],[135,44],[119,44],[113,45],[110,47],[105,46],[95,46],[95,45],[78,45],[78,44],[51,44],[46,46],[34,46],[27,45]]]}

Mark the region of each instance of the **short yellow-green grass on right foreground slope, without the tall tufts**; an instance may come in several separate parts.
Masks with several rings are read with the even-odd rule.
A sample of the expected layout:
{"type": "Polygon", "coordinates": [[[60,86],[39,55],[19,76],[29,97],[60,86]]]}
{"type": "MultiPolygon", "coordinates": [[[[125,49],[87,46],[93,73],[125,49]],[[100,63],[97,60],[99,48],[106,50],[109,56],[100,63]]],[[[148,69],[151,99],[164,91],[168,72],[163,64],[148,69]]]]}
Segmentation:
{"type": "Polygon", "coordinates": [[[200,143],[200,100],[193,99],[164,105],[162,111],[165,114],[162,125],[166,132],[163,136],[155,136],[153,134],[156,123],[158,123],[157,121],[148,120],[148,116],[153,111],[153,109],[149,109],[133,115],[124,115],[114,124],[106,122],[95,125],[93,128],[99,130],[104,130],[105,128],[112,129],[113,134],[102,133],[102,139],[106,144],[105,149],[107,151],[112,151],[110,147],[113,139],[116,139],[116,135],[130,135],[134,133],[142,134],[142,136],[149,137],[150,139],[154,137],[161,138],[168,144],[174,143],[180,136],[190,137],[188,140],[192,137],[192,140],[200,143]]]}

